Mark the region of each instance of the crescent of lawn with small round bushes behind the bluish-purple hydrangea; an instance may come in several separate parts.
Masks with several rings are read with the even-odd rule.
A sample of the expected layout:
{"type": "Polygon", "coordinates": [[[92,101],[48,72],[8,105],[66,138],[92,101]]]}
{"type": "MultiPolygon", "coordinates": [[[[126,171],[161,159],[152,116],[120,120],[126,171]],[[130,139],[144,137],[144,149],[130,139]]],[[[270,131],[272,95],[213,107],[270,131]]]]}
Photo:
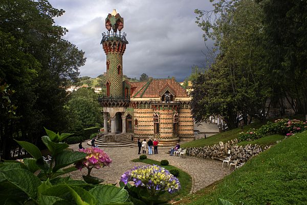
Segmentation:
{"type": "MultiPolygon", "coordinates": [[[[156,160],[152,160],[152,159],[134,159],[132,160],[134,162],[143,162],[143,163],[148,163],[149,165],[159,165],[161,167],[164,167],[166,170],[172,170],[172,169],[178,169],[177,167],[173,167],[171,165],[167,165],[167,166],[162,166],[160,165],[160,161],[156,161],[156,160]]],[[[185,197],[186,195],[188,195],[191,191],[192,188],[192,178],[191,176],[182,171],[181,169],[178,169],[180,174],[179,177],[177,177],[180,181],[180,185],[181,185],[181,189],[179,192],[177,193],[173,193],[173,194],[169,194],[169,193],[165,193],[161,196],[161,198],[170,201],[170,200],[174,200],[174,201],[178,201],[181,198],[185,197]]]]}

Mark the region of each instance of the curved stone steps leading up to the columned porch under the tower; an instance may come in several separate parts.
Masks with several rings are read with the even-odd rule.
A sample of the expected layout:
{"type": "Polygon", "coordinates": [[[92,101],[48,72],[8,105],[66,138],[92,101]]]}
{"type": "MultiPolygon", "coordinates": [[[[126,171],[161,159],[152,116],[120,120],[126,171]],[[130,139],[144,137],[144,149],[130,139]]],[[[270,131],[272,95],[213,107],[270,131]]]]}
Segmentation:
{"type": "MultiPolygon", "coordinates": [[[[134,146],[131,136],[127,136],[126,133],[121,134],[99,134],[96,139],[96,145],[98,147],[127,147],[134,146]]],[[[87,142],[91,145],[91,141],[87,142]]]]}

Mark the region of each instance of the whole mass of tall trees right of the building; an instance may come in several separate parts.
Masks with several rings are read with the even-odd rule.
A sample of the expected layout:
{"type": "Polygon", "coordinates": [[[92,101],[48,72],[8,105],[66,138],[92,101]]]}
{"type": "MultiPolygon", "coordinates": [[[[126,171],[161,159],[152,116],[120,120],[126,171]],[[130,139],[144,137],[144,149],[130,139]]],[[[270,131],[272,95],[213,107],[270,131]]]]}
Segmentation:
{"type": "Polygon", "coordinates": [[[193,80],[197,122],[220,115],[230,128],[237,117],[266,118],[288,100],[306,113],[306,3],[220,0],[212,11],[195,10],[204,39],[214,41],[210,68],[193,80]],[[274,12],[272,12],[274,11],[274,12]]]}

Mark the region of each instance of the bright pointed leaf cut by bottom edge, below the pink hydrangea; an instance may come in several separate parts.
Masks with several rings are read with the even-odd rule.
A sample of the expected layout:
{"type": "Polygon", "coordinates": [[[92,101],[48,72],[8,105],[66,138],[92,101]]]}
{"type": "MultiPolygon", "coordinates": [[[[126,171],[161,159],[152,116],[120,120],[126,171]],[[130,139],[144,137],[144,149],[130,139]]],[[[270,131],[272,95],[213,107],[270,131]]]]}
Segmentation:
{"type": "Polygon", "coordinates": [[[96,204],[96,200],[90,192],[87,192],[80,187],[68,187],[68,189],[78,205],[96,204]]]}

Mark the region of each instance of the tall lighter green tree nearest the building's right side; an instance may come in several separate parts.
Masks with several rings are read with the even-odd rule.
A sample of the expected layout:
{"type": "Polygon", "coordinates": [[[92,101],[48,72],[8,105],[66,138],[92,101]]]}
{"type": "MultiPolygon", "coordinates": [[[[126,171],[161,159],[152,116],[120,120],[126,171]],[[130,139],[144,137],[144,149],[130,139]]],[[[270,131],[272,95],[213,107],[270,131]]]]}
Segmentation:
{"type": "Polygon", "coordinates": [[[259,32],[261,9],[246,0],[221,0],[214,8],[195,11],[205,39],[215,41],[218,53],[209,70],[193,81],[193,116],[200,121],[222,115],[229,128],[237,126],[239,115],[245,124],[248,115],[264,119],[271,88],[268,64],[261,60],[267,58],[266,36],[259,32]]]}

